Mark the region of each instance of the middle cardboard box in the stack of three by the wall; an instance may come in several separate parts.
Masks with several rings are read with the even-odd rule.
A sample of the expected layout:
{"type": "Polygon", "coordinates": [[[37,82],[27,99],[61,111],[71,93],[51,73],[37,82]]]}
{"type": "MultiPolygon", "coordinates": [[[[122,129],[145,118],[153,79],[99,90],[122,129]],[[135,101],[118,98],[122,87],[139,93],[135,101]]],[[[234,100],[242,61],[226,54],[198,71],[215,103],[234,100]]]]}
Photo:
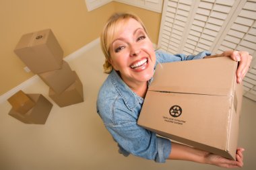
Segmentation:
{"type": "Polygon", "coordinates": [[[61,69],[39,73],[38,76],[57,94],[62,93],[71,84],[75,83],[76,78],[75,73],[65,60],[63,60],[61,69]]]}

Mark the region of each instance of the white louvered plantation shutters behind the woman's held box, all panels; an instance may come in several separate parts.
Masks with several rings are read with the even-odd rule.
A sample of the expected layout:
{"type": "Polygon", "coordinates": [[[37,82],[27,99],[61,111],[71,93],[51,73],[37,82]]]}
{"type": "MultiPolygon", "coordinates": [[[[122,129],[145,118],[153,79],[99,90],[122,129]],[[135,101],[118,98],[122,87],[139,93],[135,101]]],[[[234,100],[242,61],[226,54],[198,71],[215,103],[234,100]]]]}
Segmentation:
{"type": "Polygon", "coordinates": [[[248,51],[244,96],[256,101],[256,0],[165,0],[158,47],[172,54],[248,51]]]}

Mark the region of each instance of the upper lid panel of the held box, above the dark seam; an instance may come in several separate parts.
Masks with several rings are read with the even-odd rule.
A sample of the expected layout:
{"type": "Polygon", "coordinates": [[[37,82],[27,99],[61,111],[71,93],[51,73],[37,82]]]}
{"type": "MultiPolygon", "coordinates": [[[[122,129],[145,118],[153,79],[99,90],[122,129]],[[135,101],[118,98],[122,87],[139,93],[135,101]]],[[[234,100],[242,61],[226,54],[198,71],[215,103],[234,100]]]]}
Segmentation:
{"type": "Polygon", "coordinates": [[[163,63],[156,67],[154,81],[148,90],[232,95],[236,67],[237,62],[229,57],[163,63]]]}

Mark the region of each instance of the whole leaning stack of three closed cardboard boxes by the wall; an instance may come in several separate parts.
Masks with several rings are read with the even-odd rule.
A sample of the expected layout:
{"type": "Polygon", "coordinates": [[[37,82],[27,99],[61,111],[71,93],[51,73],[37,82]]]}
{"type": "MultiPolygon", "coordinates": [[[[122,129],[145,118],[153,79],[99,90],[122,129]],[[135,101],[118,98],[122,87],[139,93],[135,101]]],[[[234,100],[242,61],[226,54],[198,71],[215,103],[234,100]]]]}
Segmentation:
{"type": "Polygon", "coordinates": [[[57,105],[64,107],[84,101],[83,85],[63,60],[63,50],[50,29],[25,34],[14,52],[50,87],[49,96],[57,105]],[[66,97],[67,94],[72,97],[66,97]]]}

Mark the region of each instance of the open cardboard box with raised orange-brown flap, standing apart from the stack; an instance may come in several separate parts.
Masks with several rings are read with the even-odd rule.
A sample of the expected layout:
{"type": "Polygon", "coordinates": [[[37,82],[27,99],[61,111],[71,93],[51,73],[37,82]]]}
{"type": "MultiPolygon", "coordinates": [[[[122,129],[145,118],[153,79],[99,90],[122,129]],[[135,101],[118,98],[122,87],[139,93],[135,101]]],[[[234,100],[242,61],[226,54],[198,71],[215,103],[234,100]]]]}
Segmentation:
{"type": "Polygon", "coordinates": [[[18,91],[8,99],[12,105],[9,115],[26,124],[45,124],[53,104],[40,94],[18,91]]]}

